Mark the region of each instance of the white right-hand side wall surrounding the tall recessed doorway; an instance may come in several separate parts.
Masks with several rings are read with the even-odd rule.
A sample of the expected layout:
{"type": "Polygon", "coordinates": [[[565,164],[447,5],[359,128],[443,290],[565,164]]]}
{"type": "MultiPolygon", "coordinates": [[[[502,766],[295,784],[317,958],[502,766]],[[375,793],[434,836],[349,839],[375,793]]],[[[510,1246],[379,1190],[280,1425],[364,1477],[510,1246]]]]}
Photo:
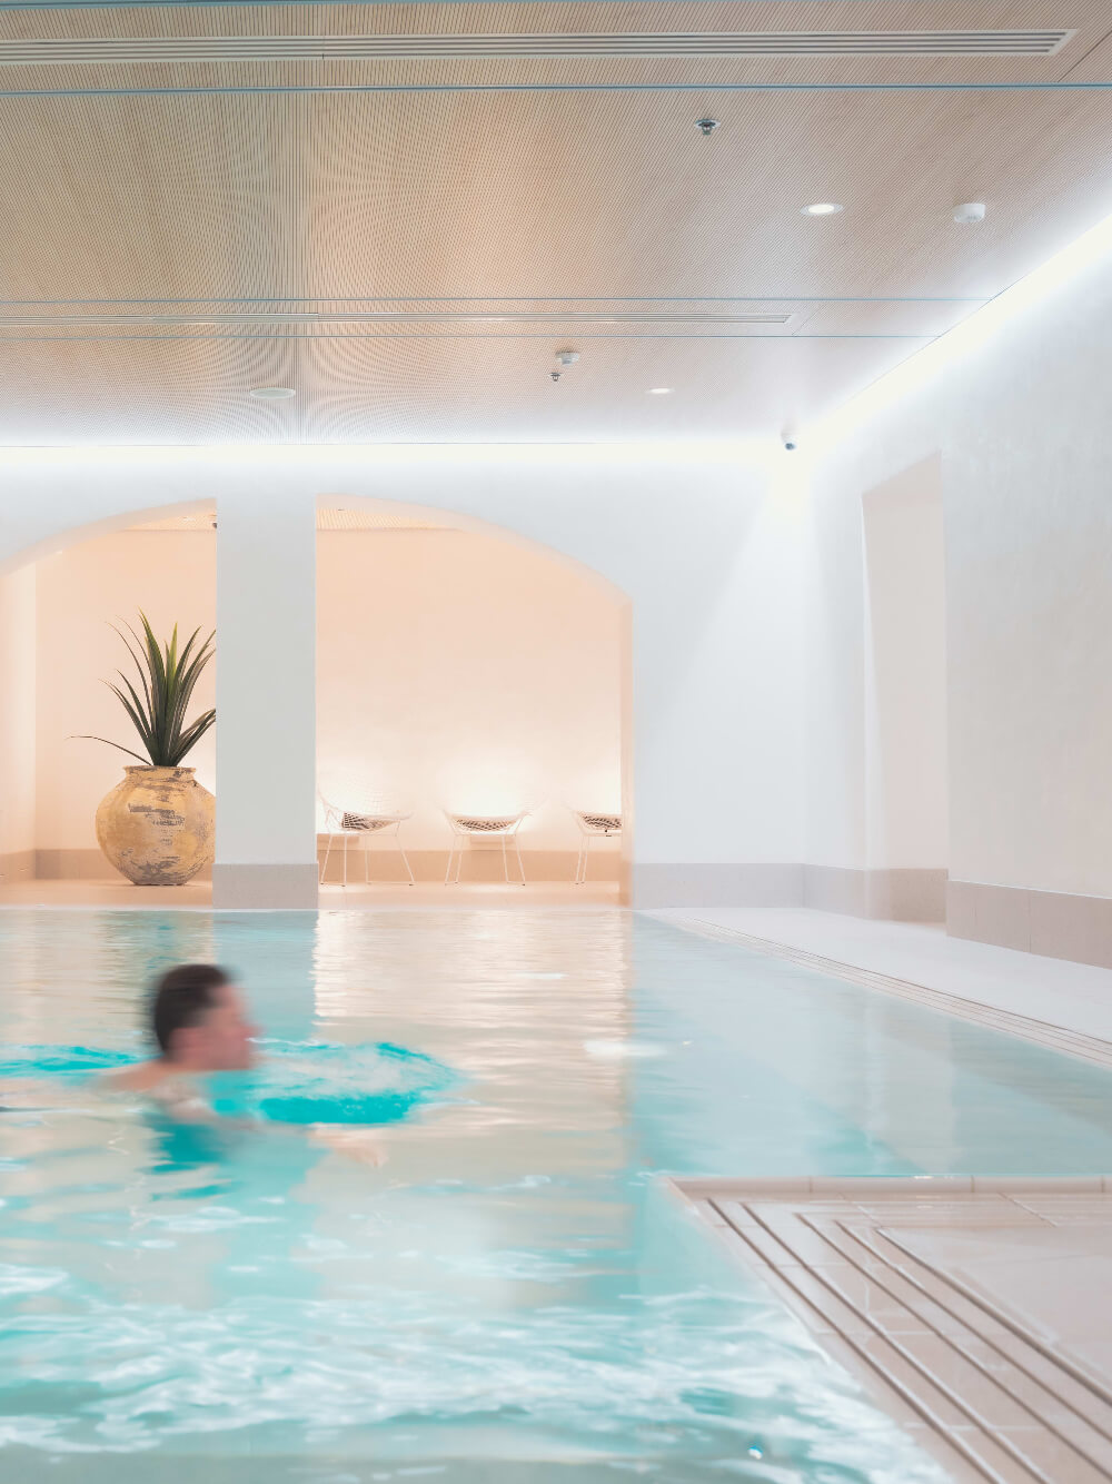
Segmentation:
{"type": "MultiPolygon", "coordinates": [[[[861,502],[937,459],[952,879],[1112,896],[1112,272],[824,454],[811,508],[811,859],[867,865],[861,502]]],[[[909,684],[912,684],[909,674],[909,684]]],[[[924,846],[919,865],[933,865],[924,846]]]]}

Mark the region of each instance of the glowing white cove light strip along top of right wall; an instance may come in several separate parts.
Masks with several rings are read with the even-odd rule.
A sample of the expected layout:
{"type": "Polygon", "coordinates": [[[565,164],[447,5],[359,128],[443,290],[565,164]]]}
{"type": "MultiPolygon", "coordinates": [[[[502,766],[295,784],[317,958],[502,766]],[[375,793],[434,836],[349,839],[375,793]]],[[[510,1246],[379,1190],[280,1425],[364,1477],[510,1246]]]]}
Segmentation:
{"type": "Polygon", "coordinates": [[[870,386],[857,392],[841,407],[827,413],[807,429],[808,450],[841,442],[870,417],[887,411],[894,402],[921,390],[934,377],[980,350],[1010,321],[1050,298],[1070,279],[1112,254],[1112,215],[1060,248],[1026,278],[982,304],[971,315],[916,350],[906,361],[885,371],[870,386]]]}

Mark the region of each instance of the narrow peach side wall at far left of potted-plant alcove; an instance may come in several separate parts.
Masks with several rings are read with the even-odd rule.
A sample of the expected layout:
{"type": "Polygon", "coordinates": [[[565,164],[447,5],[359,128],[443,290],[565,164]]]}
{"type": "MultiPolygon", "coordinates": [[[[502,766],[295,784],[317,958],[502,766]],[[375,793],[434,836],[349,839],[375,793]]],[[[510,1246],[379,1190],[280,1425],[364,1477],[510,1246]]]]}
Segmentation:
{"type": "Polygon", "coordinates": [[[0,577],[0,879],[34,874],[36,570],[0,577]],[[7,859],[4,859],[7,858],[7,859]]]}

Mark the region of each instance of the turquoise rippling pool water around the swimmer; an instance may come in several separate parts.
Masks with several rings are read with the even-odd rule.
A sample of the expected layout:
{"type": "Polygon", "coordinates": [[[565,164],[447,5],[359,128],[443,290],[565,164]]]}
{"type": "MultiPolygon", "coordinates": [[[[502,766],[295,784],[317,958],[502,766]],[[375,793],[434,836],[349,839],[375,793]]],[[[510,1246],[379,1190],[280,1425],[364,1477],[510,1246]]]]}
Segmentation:
{"type": "Polygon", "coordinates": [[[1112,1169],[1108,1073],[617,911],[9,910],[0,984],[19,1484],[927,1484],[660,1172],[1112,1169]],[[193,959],[282,1132],[90,1097],[193,959]]]}

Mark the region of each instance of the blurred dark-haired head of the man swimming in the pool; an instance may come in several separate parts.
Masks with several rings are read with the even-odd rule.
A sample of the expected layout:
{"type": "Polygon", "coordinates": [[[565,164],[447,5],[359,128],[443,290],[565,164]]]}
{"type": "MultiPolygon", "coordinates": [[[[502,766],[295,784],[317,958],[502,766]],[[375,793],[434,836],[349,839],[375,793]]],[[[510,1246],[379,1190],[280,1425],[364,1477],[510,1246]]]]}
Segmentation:
{"type": "Polygon", "coordinates": [[[179,963],[154,985],[154,1039],[166,1061],[190,1071],[243,1071],[255,1060],[243,994],[212,963],[179,963]]]}

